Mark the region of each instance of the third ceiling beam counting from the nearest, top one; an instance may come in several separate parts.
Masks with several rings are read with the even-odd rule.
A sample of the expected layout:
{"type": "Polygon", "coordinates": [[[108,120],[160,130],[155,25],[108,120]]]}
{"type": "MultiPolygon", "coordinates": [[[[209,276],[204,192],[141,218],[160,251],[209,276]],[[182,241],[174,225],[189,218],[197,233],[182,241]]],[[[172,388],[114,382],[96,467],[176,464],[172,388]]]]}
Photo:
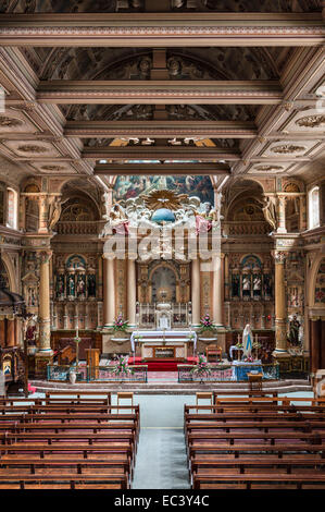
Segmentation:
{"type": "Polygon", "coordinates": [[[64,136],[79,138],[252,138],[250,121],[67,121],[64,136]]]}

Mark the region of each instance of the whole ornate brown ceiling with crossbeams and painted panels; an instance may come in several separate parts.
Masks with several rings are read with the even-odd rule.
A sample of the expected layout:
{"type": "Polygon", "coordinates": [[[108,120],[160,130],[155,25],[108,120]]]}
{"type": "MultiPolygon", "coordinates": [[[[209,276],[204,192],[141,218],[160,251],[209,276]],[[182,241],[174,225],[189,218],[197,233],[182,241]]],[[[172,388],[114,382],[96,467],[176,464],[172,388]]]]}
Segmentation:
{"type": "Polygon", "coordinates": [[[325,160],[321,3],[2,1],[0,155],[24,174],[107,183],[312,182],[325,160]]]}

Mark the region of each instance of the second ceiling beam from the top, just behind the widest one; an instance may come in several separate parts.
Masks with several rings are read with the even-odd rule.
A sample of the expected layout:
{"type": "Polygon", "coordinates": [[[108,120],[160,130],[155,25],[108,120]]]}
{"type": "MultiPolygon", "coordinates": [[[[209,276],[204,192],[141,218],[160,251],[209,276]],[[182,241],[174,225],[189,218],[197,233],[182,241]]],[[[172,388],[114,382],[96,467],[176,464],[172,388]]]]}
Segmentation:
{"type": "Polygon", "coordinates": [[[277,81],[42,81],[40,103],[278,105],[277,81]]]}

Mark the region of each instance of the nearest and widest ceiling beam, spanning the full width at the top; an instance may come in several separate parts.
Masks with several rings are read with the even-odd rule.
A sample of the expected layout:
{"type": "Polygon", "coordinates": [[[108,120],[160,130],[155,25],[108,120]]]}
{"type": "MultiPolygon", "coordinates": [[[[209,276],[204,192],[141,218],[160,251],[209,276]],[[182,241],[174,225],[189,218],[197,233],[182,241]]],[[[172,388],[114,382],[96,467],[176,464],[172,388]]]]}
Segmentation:
{"type": "Polygon", "coordinates": [[[315,46],[322,13],[1,14],[0,45],[48,47],[315,46]]]}

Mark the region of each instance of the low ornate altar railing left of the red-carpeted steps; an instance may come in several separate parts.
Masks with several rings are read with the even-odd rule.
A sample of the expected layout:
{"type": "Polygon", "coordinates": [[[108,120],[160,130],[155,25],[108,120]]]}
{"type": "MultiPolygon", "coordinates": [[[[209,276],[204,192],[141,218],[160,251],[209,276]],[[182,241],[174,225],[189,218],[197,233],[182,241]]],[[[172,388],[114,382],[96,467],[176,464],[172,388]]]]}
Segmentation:
{"type": "Polygon", "coordinates": [[[71,371],[75,371],[77,382],[148,382],[148,366],[135,365],[129,369],[130,374],[116,375],[113,366],[79,366],[76,371],[76,366],[72,365],[48,365],[47,377],[48,380],[66,382],[70,381],[71,371]]]}

